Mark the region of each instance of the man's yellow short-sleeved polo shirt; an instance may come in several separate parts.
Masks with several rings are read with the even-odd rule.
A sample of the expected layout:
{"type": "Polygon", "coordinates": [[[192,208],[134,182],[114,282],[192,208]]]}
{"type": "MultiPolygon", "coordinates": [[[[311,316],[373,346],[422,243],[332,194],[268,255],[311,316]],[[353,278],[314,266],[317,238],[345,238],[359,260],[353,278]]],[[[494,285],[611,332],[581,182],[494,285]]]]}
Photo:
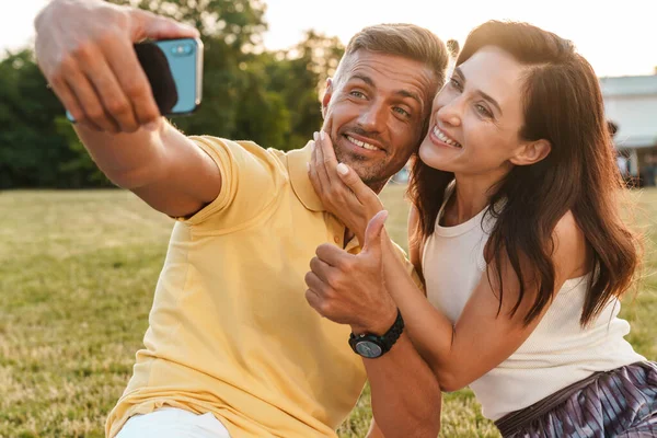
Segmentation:
{"type": "Polygon", "coordinates": [[[211,412],[234,438],[335,437],[366,372],[349,326],[304,297],[316,246],[342,247],[345,231],[310,184],[310,148],[193,140],[219,166],[221,193],[174,226],[145,348],[106,434],[166,405],[211,412]]]}

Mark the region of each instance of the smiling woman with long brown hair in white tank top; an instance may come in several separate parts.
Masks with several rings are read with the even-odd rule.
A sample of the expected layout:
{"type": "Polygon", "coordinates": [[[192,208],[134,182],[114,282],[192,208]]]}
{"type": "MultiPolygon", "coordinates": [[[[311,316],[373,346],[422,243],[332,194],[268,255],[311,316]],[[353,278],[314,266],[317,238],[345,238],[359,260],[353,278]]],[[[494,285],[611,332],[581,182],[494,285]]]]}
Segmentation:
{"type": "MultiPolygon", "coordinates": [[[[326,143],[311,180],[362,242],[362,218],[381,206],[344,164],[323,169],[342,181],[318,177],[331,165],[326,143]]],[[[656,436],[657,366],[623,339],[629,324],[616,316],[639,244],[619,215],[623,186],[590,65],[538,27],[483,24],[434,101],[418,158],[410,252],[426,298],[387,239],[382,255],[353,256],[348,269],[313,261],[309,287],[385,289],[442,389],[470,385],[504,437],[656,436]]]]}

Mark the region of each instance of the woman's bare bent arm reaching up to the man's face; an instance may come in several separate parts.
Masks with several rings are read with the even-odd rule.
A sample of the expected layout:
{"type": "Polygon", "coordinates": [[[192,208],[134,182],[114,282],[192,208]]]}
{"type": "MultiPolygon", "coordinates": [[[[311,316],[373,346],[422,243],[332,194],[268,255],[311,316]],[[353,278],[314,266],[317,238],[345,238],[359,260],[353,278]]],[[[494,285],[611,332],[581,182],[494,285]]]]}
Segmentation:
{"type": "MultiPolygon", "coordinates": [[[[374,208],[370,201],[373,193],[367,193],[368,187],[348,168],[346,174],[337,176],[338,178],[330,182],[332,188],[324,188],[324,193],[334,194],[333,209],[336,216],[346,219],[345,222],[349,221],[355,227],[362,228],[362,211],[374,208]],[[348,191],[348,195],[336,196],[341,189],[348,191]],[[362,193],[367,193],[367,196],[361,196],[362,193]]],[[[412,212],[411,218],[412,233],[417,221],[416,214],[412,212]]],[[[361,232],[354,231],[357,234],[361,232]]],[[[555,291],[558,291],[566,279],[586,273],[586,242],[569,212],[557,224],[553,238],[555,291]]],[[[412,261],[416,266],[420,266],[422,243],[411,243],[412,261]]],[[[405,315],[407,332],[415,348],[431,367],[442,390],[453,391],[462,388],[499,365],[522,345],[548,310],[546,307],[531,324],[523,324],[523,316],[533,303],[538,290],[535,285],[527,284],[521,306],[512,316],[510,315],[519,296],[519,284],[509,262],[504,260],[500,273],[505,286],[502,307],[498,299],[499,288],[488,281],[488,276],[483,275],[459,320],[452,324],[427,301],[424,292],[413,283],[396,256],[390,239],[383,241],[381,257],[382,278],[377,286],[368,287],[379,287],[392,296],[405,315]]],[[[339,276],[343,276],[344,284],[350,284],[349,277],[365,275],[364,268],[351,266],[349,272],[341,272],[339,276]]],[[[493,266],[488,266],[488,270],[492,274],[491,278],[495,279],[493,266]]],[[[351,288],[350,292],[360,293],[357,288],[351,288]]]]}

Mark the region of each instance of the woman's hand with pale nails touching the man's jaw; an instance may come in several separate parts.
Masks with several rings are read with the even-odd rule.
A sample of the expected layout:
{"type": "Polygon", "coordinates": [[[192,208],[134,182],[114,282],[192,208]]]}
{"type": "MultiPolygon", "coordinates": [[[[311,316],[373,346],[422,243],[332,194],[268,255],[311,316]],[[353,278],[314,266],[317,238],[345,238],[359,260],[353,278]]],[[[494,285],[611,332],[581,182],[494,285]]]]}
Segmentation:
{"type": "Polygon", "coordinates": [[[324,208],[353,231],[364,243],[369,220],[383,209],[377,194],[347,164],[338,163],[330,135],[314,134],[308,173],[324,208]]]}

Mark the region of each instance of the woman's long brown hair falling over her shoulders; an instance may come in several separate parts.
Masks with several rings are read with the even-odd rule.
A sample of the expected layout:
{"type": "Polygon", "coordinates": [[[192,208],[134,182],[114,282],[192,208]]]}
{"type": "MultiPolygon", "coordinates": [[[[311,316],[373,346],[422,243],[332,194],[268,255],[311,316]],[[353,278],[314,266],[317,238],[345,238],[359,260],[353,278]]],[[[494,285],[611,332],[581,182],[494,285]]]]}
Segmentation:
{"type": "MultiPolygon", "coordinates": [[[[492,191],[486,215],[497,220],[486,255],[499,280],[498,311],[505,256],[520,283],[511,315],[519,309],[528,283],[537,284],[539,290],[525,324],[539,316],[552,300],[552,237],[558,220],[570,210],[591,254],[592,275],[580,318],[584,326],[612,297],[630,288],[641,247],[619,214],[618,197],[624,183],[615,165],[598,79],[570,42],[526,23],[491,21],[476,27],[468,36],[457,65],[484,46],[499,47],[528,67],[522,94],[525,126],[519,137],[528,141],[545,139],[552,145],[543,161],[512,168],[492,191]],[[504,207],[494,208],[499,200],[504,200],[504,207]]],[[[453,178],[453,173],[415,160],[408,187],[419,212],[415,239],[424,240],[434,232],[446,188],[453,178]]]]}

